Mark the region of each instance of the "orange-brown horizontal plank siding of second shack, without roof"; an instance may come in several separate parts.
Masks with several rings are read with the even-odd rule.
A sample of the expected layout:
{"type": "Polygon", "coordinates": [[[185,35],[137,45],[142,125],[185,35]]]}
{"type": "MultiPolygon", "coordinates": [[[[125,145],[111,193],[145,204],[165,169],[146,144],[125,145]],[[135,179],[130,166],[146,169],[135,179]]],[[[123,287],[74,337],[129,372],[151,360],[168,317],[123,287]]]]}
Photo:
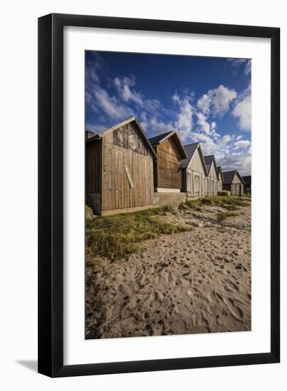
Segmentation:
{"type": "Polygon", "coordinates": [[[157,162],[155,162],[155,188],[182,187],[182,158],[172,137],[155,146],[157,162]]]}

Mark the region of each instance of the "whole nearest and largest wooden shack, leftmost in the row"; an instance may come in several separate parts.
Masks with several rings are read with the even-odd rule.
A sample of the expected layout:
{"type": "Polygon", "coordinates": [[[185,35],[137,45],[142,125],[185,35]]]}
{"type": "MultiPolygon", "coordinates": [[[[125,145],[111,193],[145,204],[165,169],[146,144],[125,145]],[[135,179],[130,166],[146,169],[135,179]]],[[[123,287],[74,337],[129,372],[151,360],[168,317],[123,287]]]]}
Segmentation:
{"type": "Polygon", "coordinates": [[[156,159],[136,117],[86,139],[86,202],[94,213],[153,205],[156,159]]]}

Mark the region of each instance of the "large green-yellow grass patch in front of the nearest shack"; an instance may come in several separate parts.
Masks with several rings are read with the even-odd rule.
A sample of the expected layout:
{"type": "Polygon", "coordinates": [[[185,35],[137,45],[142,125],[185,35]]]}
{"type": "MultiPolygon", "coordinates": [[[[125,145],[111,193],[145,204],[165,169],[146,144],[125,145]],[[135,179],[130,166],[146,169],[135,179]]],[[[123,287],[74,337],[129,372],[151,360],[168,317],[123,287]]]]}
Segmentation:
{"type": "Polygon", "coordinates": [[[160,234],[191,230],[189,227],[167,223],[161,218],[167,213],[175,211],[169,206],[163,206],[86,220],[86,251],[92,256],[119,259],[136,252],[138,244],[143,240],[154,239],[160,234]]]}

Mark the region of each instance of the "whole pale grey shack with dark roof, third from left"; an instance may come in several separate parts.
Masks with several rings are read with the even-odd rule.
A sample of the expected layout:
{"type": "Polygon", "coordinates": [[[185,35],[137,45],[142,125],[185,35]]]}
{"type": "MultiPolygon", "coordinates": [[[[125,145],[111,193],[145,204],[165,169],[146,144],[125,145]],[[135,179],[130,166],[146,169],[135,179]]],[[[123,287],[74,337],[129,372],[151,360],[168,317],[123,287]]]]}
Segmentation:
{"type": "Polygon", "coordinates": [[[206,195],[207,167],[199,143],[184,145],[187,159],[182,160],[182,191],[192,197],[206,195]]]}

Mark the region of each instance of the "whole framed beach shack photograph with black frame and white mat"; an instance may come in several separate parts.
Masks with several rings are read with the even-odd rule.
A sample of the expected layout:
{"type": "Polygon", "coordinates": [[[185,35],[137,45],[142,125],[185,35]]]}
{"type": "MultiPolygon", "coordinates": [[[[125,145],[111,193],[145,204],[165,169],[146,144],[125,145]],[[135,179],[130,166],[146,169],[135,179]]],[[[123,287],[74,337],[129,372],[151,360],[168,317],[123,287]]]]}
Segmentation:
{"type": "Polygon", "coordinates": [[[280,29],[38,19],[38,372],[280,360],[280,29]]]}

